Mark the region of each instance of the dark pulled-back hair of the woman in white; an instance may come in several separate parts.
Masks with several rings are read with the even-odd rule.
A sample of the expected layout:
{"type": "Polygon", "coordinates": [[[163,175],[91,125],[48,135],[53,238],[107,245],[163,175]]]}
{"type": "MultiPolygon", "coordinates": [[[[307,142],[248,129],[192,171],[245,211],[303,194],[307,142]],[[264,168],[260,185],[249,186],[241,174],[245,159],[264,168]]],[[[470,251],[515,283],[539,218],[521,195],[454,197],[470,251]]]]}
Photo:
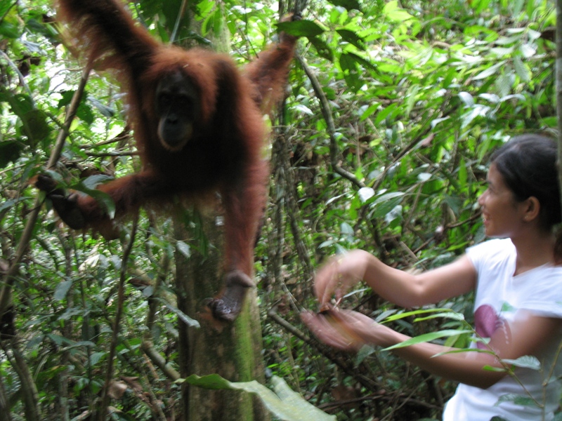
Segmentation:
{"type": "Polygon", "coordinates": [[[544,229],[562,222],[557,159],[556,142],[536,134],[511,138],[492,155],[492,163],[517,201],[537,198],[544,229]]]}

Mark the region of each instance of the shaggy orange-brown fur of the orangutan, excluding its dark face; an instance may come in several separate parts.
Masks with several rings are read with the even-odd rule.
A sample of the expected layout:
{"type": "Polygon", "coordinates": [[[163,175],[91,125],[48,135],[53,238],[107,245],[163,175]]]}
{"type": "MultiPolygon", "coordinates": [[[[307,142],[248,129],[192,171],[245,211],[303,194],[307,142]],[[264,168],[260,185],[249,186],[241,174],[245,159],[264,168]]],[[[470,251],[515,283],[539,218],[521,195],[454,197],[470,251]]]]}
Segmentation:
{"type": "MultiPolygon", "coordinates": [[[[104,67],[117,70],[143,161],[140,173],[99,189],[112,197],[117,217],[136,212],[148,201],[220,192],[227,285],[212,308],[219,319],[233,319],[251,285],[254,239],[266,201],[262,114],[282,98],[296,39],[282,36],[280,44],[261,53],[242,74],[227,55],[200,48],[183,51],[155,41],[120,0],[58,0],[58,11],[82,48],[103,60],[104,67]],[[201,114],[193,138],[175,152],[159,141],[155,112],[157,85],[172,72],[195,86],[201,114]]],[[[112,221],[94,199],[80,196],[78,206],[89,227],[111,233],[112,221]]]]}

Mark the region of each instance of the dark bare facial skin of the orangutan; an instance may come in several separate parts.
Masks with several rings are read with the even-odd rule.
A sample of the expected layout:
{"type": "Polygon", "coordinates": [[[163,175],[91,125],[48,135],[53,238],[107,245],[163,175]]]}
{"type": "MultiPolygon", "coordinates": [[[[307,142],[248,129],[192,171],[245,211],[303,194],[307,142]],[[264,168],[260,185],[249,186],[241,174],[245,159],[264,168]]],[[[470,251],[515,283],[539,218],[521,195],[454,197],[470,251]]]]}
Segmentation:
{"type": "Polygon", "coordinates": [[[167,74],[156,88],[158,137],[170,151],[185,146],[193,134],[193,123],[200,114],[199,94],[181,72],[167,74]]]}

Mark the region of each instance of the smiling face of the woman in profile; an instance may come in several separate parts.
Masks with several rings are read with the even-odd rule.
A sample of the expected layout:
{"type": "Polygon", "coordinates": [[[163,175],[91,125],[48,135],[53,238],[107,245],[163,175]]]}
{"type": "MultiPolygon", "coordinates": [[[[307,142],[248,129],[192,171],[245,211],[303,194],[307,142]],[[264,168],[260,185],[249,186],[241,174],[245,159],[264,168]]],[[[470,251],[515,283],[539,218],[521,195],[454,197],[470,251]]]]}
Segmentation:
{"type": "Polygon", "coordinates": [[[492,163],[488,171],[488,189],[478,198],[485,233],[490,237],[514,238],[523,227],[525,201],[516,201],[504,178],[492,163]]]}

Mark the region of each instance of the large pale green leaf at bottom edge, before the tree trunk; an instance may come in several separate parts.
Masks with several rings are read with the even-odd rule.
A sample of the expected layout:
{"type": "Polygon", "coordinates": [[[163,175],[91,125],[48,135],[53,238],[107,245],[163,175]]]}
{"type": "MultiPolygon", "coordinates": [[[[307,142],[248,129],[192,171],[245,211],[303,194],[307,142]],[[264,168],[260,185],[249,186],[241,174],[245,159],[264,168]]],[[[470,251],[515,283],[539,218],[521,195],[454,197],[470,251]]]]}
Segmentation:
{"type": "Polygon", "coordinates": [[[275,393],[256,380],[251,382],[229,382],[218,374],[206,375],[204,377],[190,375],[184,381],[204,389],[242,390],[256,394],[270,413],[283,421],[336,420],[335,415],[327,415],[327,413],[308,403],[300,394],[293,392],[287,386],[285,380],[277,376],[273,376],[271,379],[275,393]]]}

